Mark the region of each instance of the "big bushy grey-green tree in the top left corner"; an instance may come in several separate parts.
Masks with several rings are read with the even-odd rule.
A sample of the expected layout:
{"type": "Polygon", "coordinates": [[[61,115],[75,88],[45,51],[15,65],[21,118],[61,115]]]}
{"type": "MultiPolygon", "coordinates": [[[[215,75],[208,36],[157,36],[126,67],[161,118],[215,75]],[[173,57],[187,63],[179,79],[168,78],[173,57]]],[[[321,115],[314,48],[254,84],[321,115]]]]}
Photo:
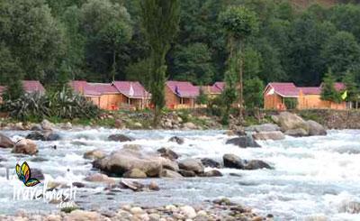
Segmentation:
{"type": "Polygon", "coordinates": [[[42,79],[57,69],[63,53],[63,30],[42,0],[3,0],[0,20],[2,41],[11,51],[25,78],[42,79]]]}

